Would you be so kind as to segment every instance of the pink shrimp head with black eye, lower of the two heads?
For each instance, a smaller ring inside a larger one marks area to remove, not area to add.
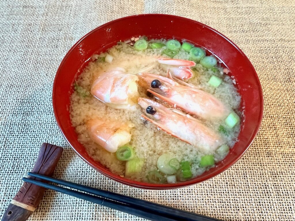
[[[188,144],[196,146],[204,153],[215,151],[225,144],[225,140],[211,128],[202,124],[196,118],[186,115],[179,110],[165,106],[146,98],[138,98],[138,104],[145,114],[142,117]]]

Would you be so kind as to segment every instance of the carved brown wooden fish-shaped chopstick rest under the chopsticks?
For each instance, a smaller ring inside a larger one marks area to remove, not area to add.
[[[52,176],[62,153],[62,147],[43,143],[32,172]],[[40,180],[30,176],[29,178]],[[41,202],[45,190],[43,187],[24,182],[4,212],[1,221],[27,220]]]

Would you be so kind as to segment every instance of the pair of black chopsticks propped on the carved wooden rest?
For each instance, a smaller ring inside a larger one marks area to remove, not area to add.
[[[211,217],[206,217],[203,215],[195,214],[192,212],[187,212],[184,210],[175,209],[172,207],[167,207],[164,205],[148,202],[142,199],[137,199],[134,197],[124,196],[122,194],[117,194],[113,192],[109,192],[106,190],[96,189],[93,187],[84,186],[81,184],[76,184],[73,182],[68,182],[61,179],[56,179],[53,177],[47,177],[37,173],[28,173],[31,177],[36,177],[39,179],[43,179],[49,182],[53,182],[56,184],[63,185],[65,187],[74,188],[86,193],[78,192],[76,190],[67,189],[64,187],[55,186],[52,184],[47,184],[41,181],[37,181],[35,179],[23,178],[23,181],[35,184],[37,186],[45,187],[47,189],[53,189],[57,192],[61,192],[64,194],[68,194],[73,197],[77,197],[80,199],[87,200],[89,202],[93,202],[99,205],[103,205],[115,210],[119,210],[122,212],[129,213],[131,215],[135,215],[138,217],[142,217],[148,220],[167,220],[167,221],[220,221],[218,219],[214,219]],[[89,194],[87,194],[89,193]],[[94,194],[96,196],[90,195]],[[97,197],[98,196],[98,197]]]

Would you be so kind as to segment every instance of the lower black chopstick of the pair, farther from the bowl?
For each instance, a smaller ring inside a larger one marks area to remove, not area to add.
[[[131,215],[142,217],[142,218],[145,218],[145,219],[148,219],[148,220],[153,220],[153,221],[159,221],[159,220],[161,220],[161,221],[162,220],[178,221],[176,219],[167,218],[167,217],[165,217],[163,215],[153,214],[153,213],[150,213],[150,212],[147,212],[147,211],[143,211],[143,210],[134,208],[134,207],[130,206],[129,204],[124,204],[124,203],[117,202],[117,201],[110,200],[110,199],[106,199],[106,198],[103,198],[103,197],[97,197],[97,196],[93,196],[93,195],[90,195],[90,194],[87,194],[87,193],[81,193],[81,192],[78,192],[76,190],[71,190],[71,189],[67,189],[67,188],[64,188],[64,187],[59,187],[59,186],[55,186],[55,185],[52,185],[52,184],[43,183],[43,182],[37,181],[35,179],[30,179],[30,178],[23,177],[22,180],[24,182],[27,182],[27,183],[32,183],[32,184],[35,184],[37,186],[44,187],[44,188],[47,188],[47,189],[52,189],[52,190],[55,190],[57,192],[61,192],[61,193],[64,193],[64,194],[67,194],[67,195],[70,195],[70,196],[73,196],[73,197],[77,197],[79,199],[84,199],[84,200],[89,201],[89,202],[93,202],[93,203],[96,203],[96,204],[99,204],[99,205],[102,205],[102,206],[105,206],[105,207],[112,208],[114,210],[119,210],[121,212],[129,213]]]

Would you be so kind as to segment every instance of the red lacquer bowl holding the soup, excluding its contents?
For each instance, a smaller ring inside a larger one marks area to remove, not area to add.
[[[83,71],[90,57],[105,52],[118,41],[132,36],[145,35],[149,38],[186,39],[205,47],[219,57],[224,66],[230,69],[230,76],[236,80],[236,87],[242,96],[241,108],[244,117],[241,123],[239,142],[217,166],[199,177],[176,184],[150,184],[120,177],[110,172],[99,162],[94,161],[77,140],[75,128],[71,124],[69,107],[71,87],[76,74]],[[53,109],[56,121],[65,139],[76,153],[105,176],[123,184],[146,189],[172,189],[184,187],[210,179],[229,168],[247,151],[253,142],[263,114],[263,96],[258,76],[246,55],[216,30],[199,22],[164,14],[142,14],[124,17],[108,22],[82,37],[65,55],[55,76],[53,84]]]

